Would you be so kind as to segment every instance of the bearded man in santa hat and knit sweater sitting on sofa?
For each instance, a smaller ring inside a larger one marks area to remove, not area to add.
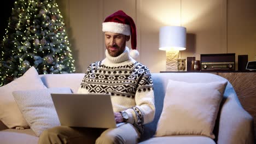
[[[39,143],[137,143],[143,133],[143,124],[153,121],[151,74],[146,66],[129,56],[138,56],[135,23],[119,10],[104,20],[102,31],[106,58],[89,65],[78,93],[110,94],[115,121],[125,124],[107,130],[56,127],[45,130]],[[131,52],[125,46],[130,37]]]

